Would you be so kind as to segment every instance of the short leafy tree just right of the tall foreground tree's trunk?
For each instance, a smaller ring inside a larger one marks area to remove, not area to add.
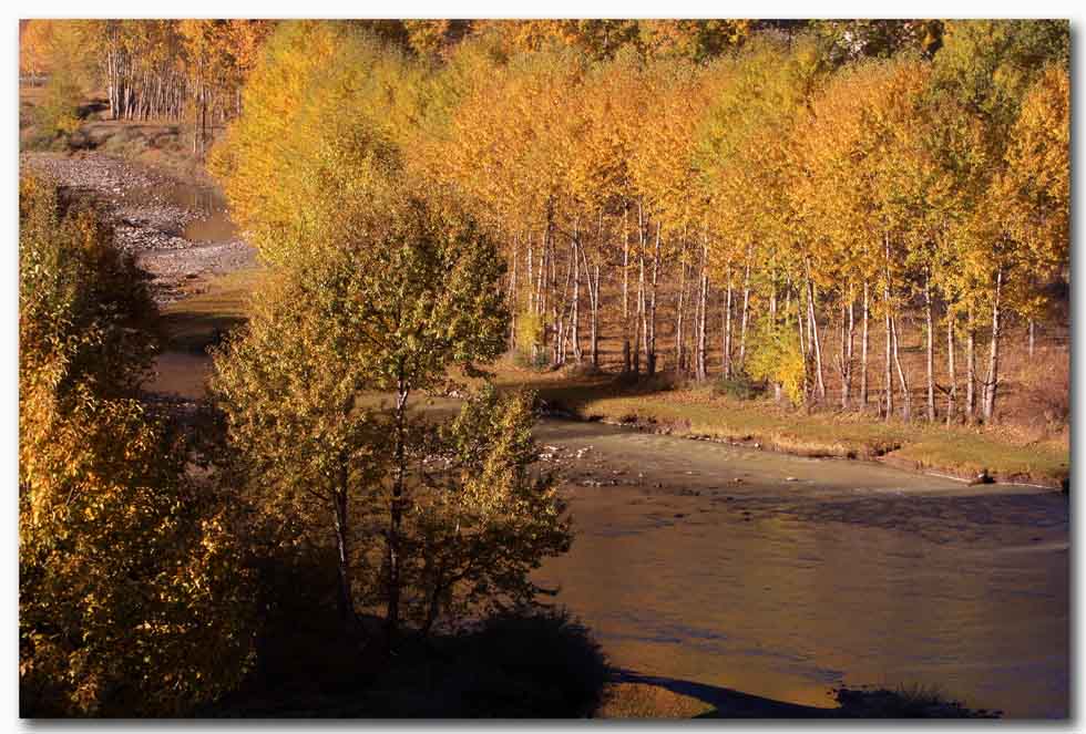
[[[472,394],[420,448],[404,555],[404,613],[424,633],[441,620],[535,602],[531,572],[570,548],[554,478],[532,467],[533,395]]]

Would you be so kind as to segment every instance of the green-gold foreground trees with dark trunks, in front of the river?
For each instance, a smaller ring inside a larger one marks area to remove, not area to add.
[[[356,608],[381,606],[391,643],[404,618],[429,631],[445,612],[530,600],[527,572],[568,529],[529,472],[527,397],[484,392],[445,426],[410,410],[451,368],[475,374],[504,349],[493,242],[433,193],[348,219],[283,261],[213,387],[230,474],[276,541],[335,538],[348,631]]]

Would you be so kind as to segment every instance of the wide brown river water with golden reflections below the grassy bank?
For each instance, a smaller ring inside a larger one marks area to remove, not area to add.
[[[649,479],[578,483],[573,550],[537,575],[614,663],[813,705],[919,683],[1067,715],[1064,497],[591,424],[541,438]]]

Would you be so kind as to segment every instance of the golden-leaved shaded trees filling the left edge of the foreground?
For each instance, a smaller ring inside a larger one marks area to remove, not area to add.
[[[23,179],[19,208],[21,713],[177,715],[250,662],[234,516],[134,397],[140,271],[50,184]]]

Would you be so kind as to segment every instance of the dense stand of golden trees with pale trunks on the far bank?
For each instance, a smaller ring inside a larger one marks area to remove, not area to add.
[[[607,335],[634,374],[666,352],[796,403],[834,390],[908,420],[922,384],[928,420],[995,418],[1007,318],[1033,324],[1066,278],[1065,22],[419,23],[437,61],[375,40],[350,68],[347,31],[280,28],[218,152],[267,257],[293,208],[324,227],[309,201],[359,185],[322,156],[371,155],[501,242],[509,339],[534,363],[598,364]],[[365,141],[316,153],[344,115]],[[918,319],[922,376],[901,359]]]

